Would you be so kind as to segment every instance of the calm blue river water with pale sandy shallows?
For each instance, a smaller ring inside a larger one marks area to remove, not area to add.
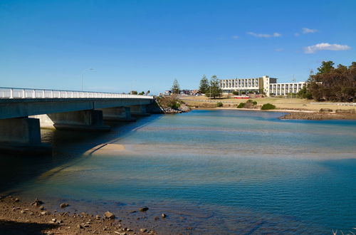
[[[157,223],[163,234],[351,230],[356,121],[281,115],[194,110],[109,133],[43,130],[53,157],[1,156],[0,193],[75,200],[78,209],[108,208],[129,219],[128,210],[147,205],[148,219],[130,223]],[[166,221],[150,218],[162,212]]]

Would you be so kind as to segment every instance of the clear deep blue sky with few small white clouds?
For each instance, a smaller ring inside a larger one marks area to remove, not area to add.
[[[0,87],[157,94],[356,61],[356,1],[1,0]],[[88,70],[93,68],[93,70]]]

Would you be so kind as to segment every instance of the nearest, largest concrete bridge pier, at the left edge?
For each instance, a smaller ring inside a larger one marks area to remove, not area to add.
[[[50,153],[51,146],[41,142],[40,121],[17,117],[0,120],[1,152]]]

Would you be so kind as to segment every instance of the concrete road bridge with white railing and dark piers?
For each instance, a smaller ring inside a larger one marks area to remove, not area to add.
[[[162,113],[153,96],[75,90],[0,88],[0,150],[48,152],[41,127],[110,130],[103,120]]]

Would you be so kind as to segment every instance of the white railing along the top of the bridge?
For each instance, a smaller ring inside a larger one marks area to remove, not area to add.
[[[140,98],[153,99],[150,95],[127,95],[78,90],[46,90],[29,88],[0,88],[0,99],[41,98]]]

